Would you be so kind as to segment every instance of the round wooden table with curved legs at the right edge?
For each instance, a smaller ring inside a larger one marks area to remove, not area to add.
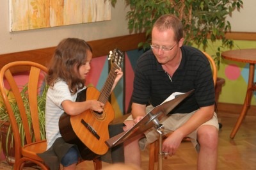
[[[236,125],[233,128],[230,138],[233,139],[238,131],[241,123],[248,111],[248,108],[251,105],[252,93],[256,90],[256,85],[254,82],[254,69],[256,64],[256,49],[240,49],[240,50],[228,50],[221,53],[221,56],[225,59],[229,59],[232,61],[238,61],[242,63],[249,63],[249,78],[248,78],[248,86],[246,91],[246,97],[244,99],[243,109],[237,119]]]

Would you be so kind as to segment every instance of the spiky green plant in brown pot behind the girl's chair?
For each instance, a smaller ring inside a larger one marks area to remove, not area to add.
[[[41,137],[42,139],[45,139],[45,100],[46,100],[46,93],[47,93],[47,86],[44,86],[42,88],[42,91],[40,91],[40,95],[38,95],[38,114],[40,118],[40,132],[42,132]],[[25,85],[22,87],[20,91],[20,95],[22,96],[22,101],[24,102],[25,108],[26,108],[26,113],[29,115],[29,102],[28,102],[28,86]],[[1,96],[0,96],[1,97]],[[17,102],[15,99],[13,99],[12,95],[12,90],[8,91],[8,98],[11,101],[12,109],[13,112],[15,113],[15,118],[19,126],[20,132],[24,132],[23,127],[22,127],[22,121],[20,118],[20,112],[19,108],[17,107]],[[13,134],[12,134],[12,128],[10,126],[10,121],[9,121],[9,116],[8,112],[6,111],[6,108],[4,107],[3,101],[0,99],[0,139],[1,139],[1,144],[2,144],[2,149],[3,153],[6,156],[6,161],[8,164],[13,164],[13,157],[15,154],[15,149],[14,149],[14,141],[13,141]],[[31,117],[29,116],[29,122],[31,123]],[[24,134],[24,133],[22,133]],[[21,139],[22,146],[25,144],[24,143],[24,137],[25,135],[22,136],[23,138]]]

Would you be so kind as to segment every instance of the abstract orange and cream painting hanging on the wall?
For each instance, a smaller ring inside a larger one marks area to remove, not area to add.
[[[9,0],[10,32],[111,19],[110,0]]]

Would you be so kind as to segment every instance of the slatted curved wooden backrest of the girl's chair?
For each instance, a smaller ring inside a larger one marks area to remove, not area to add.
[[[12,68],[21,68],[21,70],[27,70],[26,74],[28,74],[28,82],[26,82],[26,86],[28,90],[25,93],[20,92],[20,82],[17,82],[15,78],[15,73],[12,72]],[[3,98],[3,103],[8,112],[10,118],[10,125],[12,127],[13,139],[15,144],[15,160],[19,160],[21,157],[21,147],[24,139],[25,144],[33,143],[33,141],[41,141],[41,131],[40,131],[40,123],[38,116],[38,89],[40,89],[40,77],[42,75],[46,75],[48,72],[45,66],[42,66],[38,63],[33,63],[30,61],[15,61],[13,63],[8,63],[3,66],[0,71],[0,91]],[[43,76],[44,77],[44,76]],[[6,90],[10,88],[10,91]],[[13,97],[10,99],[8,97],[8,93],[12,93]],[[24,105],[24,95],[26,94],[26,100],[28,104]],[[17,111],[14,111],[13,102],[17,102],[17,107],[19,108],[19,114],[21,117],[22,125],[24,128],[24,134],[20,134],[20,125],[17,123]],[[28,113],[30,111],[30,113]],[[41,127],[42,128],[42,127]],[[24,136],[24,137],[22,137]]]

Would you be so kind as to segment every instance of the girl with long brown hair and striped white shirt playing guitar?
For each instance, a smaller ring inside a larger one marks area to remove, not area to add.
[[[38,154],[50,169],[76,169],[79,151],[76,145],[65,143],[62,139],[58,122],[63,112],[70,115],[80,114],[87,109],[102,112],[104,104],[97,100],[75,102],[77,93],[84,88],[86,76],[90,70],[92,48],[84,40],[67,38],[57,46],[47,76],[47,91],[45,123],[47,151]],[[123,75],[122,70],[116,70],[117,82]],[[112,90],[113,90],[112,88]],[[55,162],[54,162],[55,160]]]

